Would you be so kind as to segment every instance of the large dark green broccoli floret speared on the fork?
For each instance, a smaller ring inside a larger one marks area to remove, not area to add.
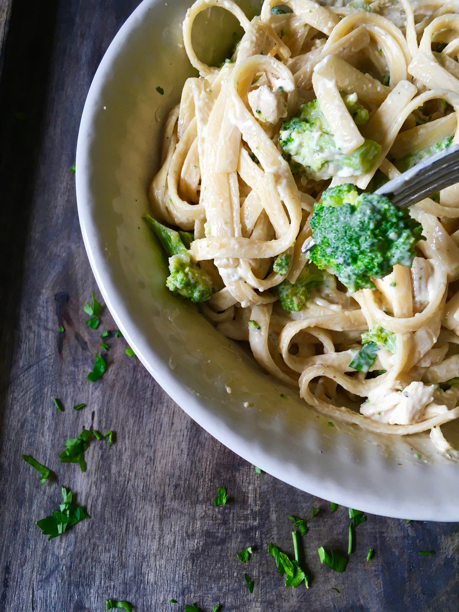
[[[333,272],[349,291],[375,288],[395,264],[411,267],[422,226],[385,196],[357,194],[354,185],[330,187],[310,219],[315,245],[309,257]]]

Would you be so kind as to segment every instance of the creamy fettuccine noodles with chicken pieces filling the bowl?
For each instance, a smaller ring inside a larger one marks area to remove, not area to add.
[[[192,45],[193,21],[211,7],[244,29],[220,67]],[[166,121],[150,200],[160,221],[194,232],[190,256],[214,289],[204,315],[327,417],[397,435],[430,431],[450,452],[439,427],[459,416],[459,184],[411,207],[427,240],[411,268],[394,266],[375,289],[352,293],[326,274],[301,308],[285,310],[276,288],[296,283],[307,264],[301,247],[325,188],[365,190],[397,176],[407,156],[459,143],[459,4],[264,0],[250,21],[232,0],[197,0],[183,34],[200,76]],[[362,125],[346,101],[355,94],[368,111]],[[283,121],[312,100],[342,154],[377,143],[369,168],[328,179],[293,173]],[[285,271],[273,265],[279,256]],[[394,346],[378,346],[365,376],[351,362],[375,326]]]

